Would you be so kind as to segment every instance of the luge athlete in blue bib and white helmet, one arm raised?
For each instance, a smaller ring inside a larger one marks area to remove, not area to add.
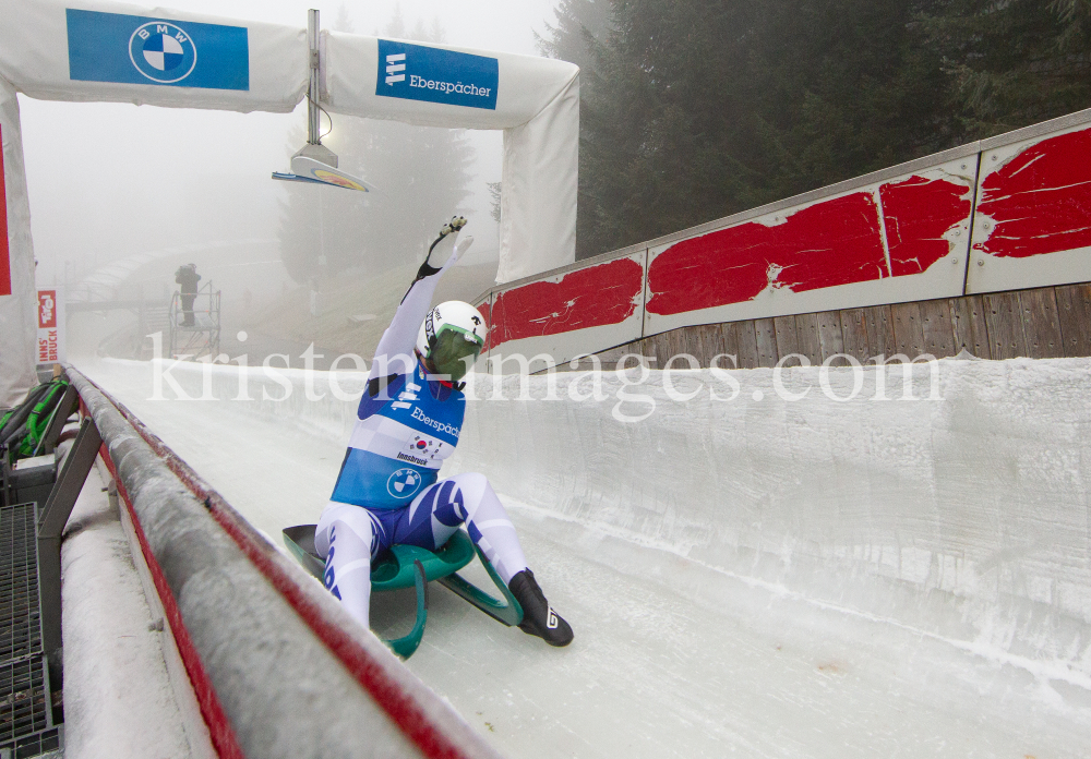
[[[459,380],[488,335],[469,303],[429,310],[440,278],[472,241],[467,238],[463,251],[455,245],[465,225],[456,216],[440,231],[379,341],[314,544],[326,559],[326,588],[367,626],[372,562],[395,543],[435,551],[465,522],[523,607],[523,631],[567,646],[572,628],[546,601],[489,481],[476,473],[437,480],[440,465],[458,445],[466,411]],[[446,263],[432,266],[433,256],[447,256]]]

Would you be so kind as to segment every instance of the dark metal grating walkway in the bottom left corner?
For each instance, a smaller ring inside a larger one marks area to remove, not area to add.
[[[41,651],[36,504],[0,507],[0,759],[37,757],[60,747]]]

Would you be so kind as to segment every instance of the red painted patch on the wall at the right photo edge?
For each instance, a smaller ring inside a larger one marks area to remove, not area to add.
[[[973,245],[983,253],[1026,258],[1091,245],[1091,130],[1009,159],[982,182],[978,212],[996,225]]]

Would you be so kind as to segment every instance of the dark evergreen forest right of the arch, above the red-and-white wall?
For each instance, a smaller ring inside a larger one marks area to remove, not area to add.
[[[560,0],[585,258],[1091,107],[1091,0]]]

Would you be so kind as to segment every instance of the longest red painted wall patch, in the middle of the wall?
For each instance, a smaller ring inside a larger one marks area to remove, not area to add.
[[[767,287],[804,292],[889,276],[871,193],[741,224],[671,245],[648,268],[647,310],[679,314],[752,300]]]

